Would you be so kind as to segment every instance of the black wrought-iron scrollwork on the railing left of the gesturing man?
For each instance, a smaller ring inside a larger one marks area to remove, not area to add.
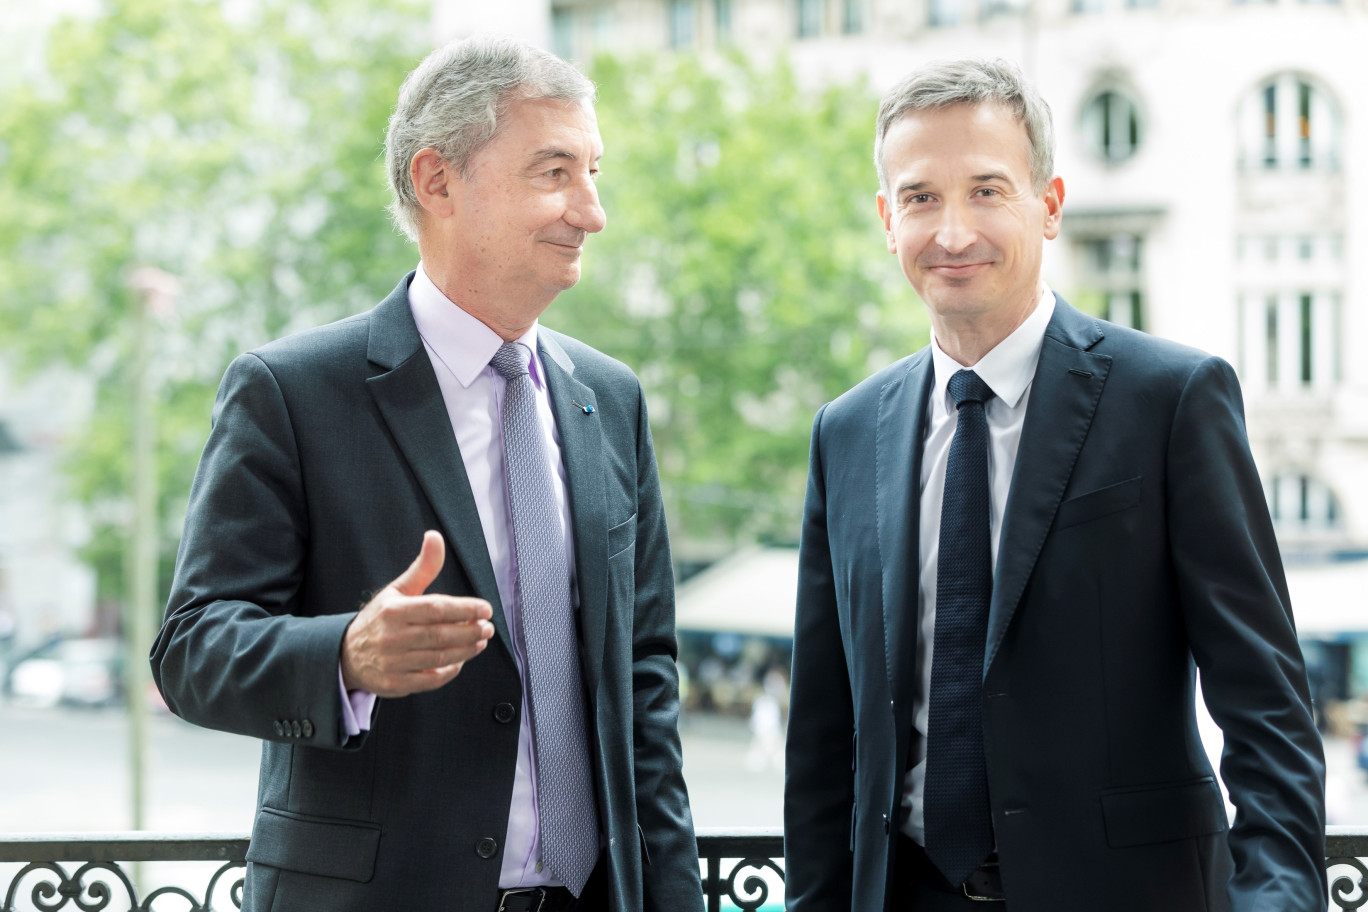
[[[245,868],[242,861],[228,861],[219,867],[209,878],[202,900],[183,887],[164,886],[153,890],[140,902],[137,887],[116,861],[86,861],[77,868],[75,874],[70,875],[55,861],[33,861],[10,881],[10,889],[5,891],[0,912],[19,912],[18,897],[23,894],[23,883],[34,879],[29,902],[37,912],[59,912],[59,909],[68,908],[79,912],[114,912],[115,909],[122,912],[124,908],[131,912],[172,912],[182,908],[183,912],[226,911],[230,907],[222,902],[215,905],[215,896],[224,889],[224,878],[231,871],[237,871],[238,876],[227,883],[226,898],[231,902],[231,908],[241,909]],[[120,889],[123,891],[122,900],[127,905],[120,901],[111,907],[111,901]],[[163,901],[167,897],[176,897],[185,905],[171,900]]]

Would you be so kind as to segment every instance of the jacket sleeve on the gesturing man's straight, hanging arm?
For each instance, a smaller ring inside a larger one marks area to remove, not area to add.
[[[637,390],[636,552],[632,619],[632,741],[636,819],[650,846],[643,859],[646,912],[702,912],[698,842],[684,786],[679,736],[679,640],[674,630],[674,572],[665,507],[646,416]]]

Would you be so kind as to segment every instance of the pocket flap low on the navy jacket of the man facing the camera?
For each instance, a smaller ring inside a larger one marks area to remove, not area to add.
[[[1107,844],[1114,849],[1190,840],[1228,829],[1216,779],[1103,793]]]

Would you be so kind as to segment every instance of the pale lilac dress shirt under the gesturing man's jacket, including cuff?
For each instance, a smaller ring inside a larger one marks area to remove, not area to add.
[[[521,648],[521,604],[517,598],[517,555],[513,548],[513,514],[509,506],[508,476],[503,472],[503,391],[508,381],[490,366],[490,358],[503,345],[503,339],[487,325],[453,304],[432,283],[423,264],[409,284],[409,308],[419,335],[432,361],[442,399],[446,403],[456,442],[461,448],[471,494],[480,514],[484,546],[494,565],[499,600],[508,618],[510,644],[523,681],[523,711],[518,726],[517,771],[513,777],[513,801],[509,807],[509,827],[503,840],[503,866],[499,887],[562,886],[550,868],[540,863],[540,823],[536,805],[536,752],[532,742],[531,712],[528,711],[527,656]],[[570,603],[579,610],[579,589],[575,580],[575,537],[570,532],[570,507],[565,492],[565,464],[561,459],[561,435],[551,414],[546,375],[536,350],[536,324],[516,342],[531,351],[528,372],[536,388],[536,409],[546,432],[546,453],[551,468],[551,487],[565,536],[565,555],[570,572]],[[446,559],[456,555],[447,544]],[[480,662],[476,656],[473,662]],[[373,696],[350,692],[343,700],[343,726],[347,734],[369,727]]]

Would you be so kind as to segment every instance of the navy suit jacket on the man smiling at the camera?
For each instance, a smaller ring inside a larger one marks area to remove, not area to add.
[[[818,413],[785,797],[792,912],[888,901],[912,732],[922,350]],[[1193,677],[1226,736],[1226,811]],[[1011,912],[1326,908],[1324,759],[1239,388],[1083,316],[1045,331],[993,584],[984,738]]]

